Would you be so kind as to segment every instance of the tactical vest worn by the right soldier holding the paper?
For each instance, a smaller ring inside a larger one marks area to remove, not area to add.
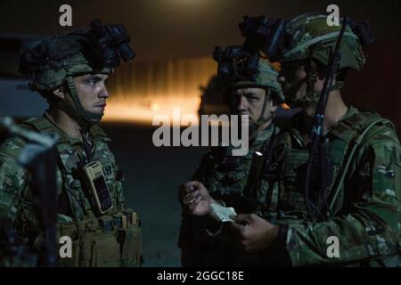
[[[331,183],[327,188],[332,213],[338,213],[346,206],[345,186],[356,173],[357,160],[360,159],[358,151],[389,127],[394,129],[389,120],[377,113],[354,109],[354,113],[341,119],[325,135],[332,165]],[[284,224],[302,223],[307,220],[304,185],[309,152],[295,129],[279,134],[273,148],[274,161],[263,169],[258,182],[258,187],[267,189],[265,208],[258,214],[277,224],[281,224],[280,221],[285,221]],[[370,175],[369,169],[357,171]]]

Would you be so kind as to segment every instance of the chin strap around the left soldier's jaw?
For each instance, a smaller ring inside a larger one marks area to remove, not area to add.
[[[69,114],[78,122],[79,126],[82,126],[84,128],[88,128],[98,123],[102,119],[102,114],[88,112],[84,109],[84,107],[82,107],[82,104],[79,101],[77,88],[72,77],[67,77],[67,84],[69,85],[70,95],[72,98],[72,102],[74,102],[75,108],[62,105],[61,110]]]

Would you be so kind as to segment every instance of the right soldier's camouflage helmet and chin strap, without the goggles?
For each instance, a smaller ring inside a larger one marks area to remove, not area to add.
[[[309,75],[305,79],[308,83],[308,92],[306,98],[297,102],[295,93],[297,88],[285,92],[286,102],[290,105],[301,107],[305,104],[317,102],[319,94],[312,91],[317,77],[316,65],[328,66],[331,54],[340,35],[342,19],[340,25],[329,26],[327,24],[327,14],[324,13],[306,13],[289,20],[286,23],[286,33],[291,41],[286,46],[286,52],[282,55],[281,62],[285,66],[296,64],[303,61],[308,65]],[[373,41],[370,34],[370,26],[366,21],[356,23],[353,20],[348,21],[344,37],[340,45],[341,57],[339,63],[339,76],[337,83],[333,88],[339,89],[343,85],[343,78],[347,69],[360,70],[364,67],[366,57],[363,52],[363,46]],[[300,86],[300,83],[299,85]]]

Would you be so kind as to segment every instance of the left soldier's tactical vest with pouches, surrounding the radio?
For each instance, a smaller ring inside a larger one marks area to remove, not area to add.
[[[61,131],[46,118],[31,118],[21,126],[40,133]],[[59,266],[140,266],[142,264],[142,230],[140,221],[131,208],[127,208],[121,186],[122,175],[107,142],[110,139],[99,126],[90,130],[94,138],[92,155],[102,163],[102,170],[110,191],[112,208],[98,215],[92,197],[79,173],[79,161],[86,155],[79,140],[73,142],[61,134],[57,142],[57,187],[59,214],[57,237],[72,240],[72,257],[59,256]],[[16,224],[22,236],[30,236],[40,229],[32,207],[30,191],[23,194],[27,203],[20,207]],[[30,205],[30,206],[29,206]],[[66,207],[67,205],[67,207]],[[41,234],[35,244],[40,247]],[[62,246],[62,244],[60,245]]]

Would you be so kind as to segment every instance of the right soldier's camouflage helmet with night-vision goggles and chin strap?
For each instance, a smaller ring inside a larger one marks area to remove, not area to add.
[[[291,107],[302,107],[316,103],[319,94],[313,91],[318,76],[318,66],[327,67],[333,53],[340,26],[327,24],[328,14],[307,13],[291,20],[268,18],[266,16],[245,16],[240,23],[241,35],[246,37],[244,46],[253,53],[282,63],[288,69],[297,62],[306,64],[308,76],[294,85],[284,95]],[[339,89],[347,69],[360,70],[366,58],[362,47],[372,43],[370,26],[367,21],[357,23],[349,20],[341,43],[339,74],[332,89]],[[307,82],[307,96],[301,101],[295,99],[299,86]]]

